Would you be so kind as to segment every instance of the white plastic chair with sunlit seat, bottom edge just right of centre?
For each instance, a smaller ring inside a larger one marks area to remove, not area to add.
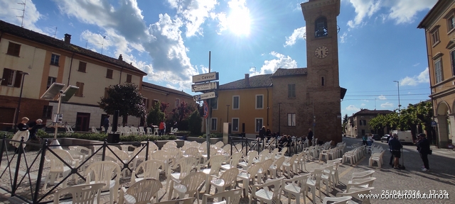
[[[273,191],[269,190],[270,186],[273,187]],[[259,191],[257,191],[258,188]],[[282,190],[282,179],[272,179],[268,180],[264,184],[260,185],[253,185],[252,186],[252,193],[250,196],[250,203],[252,202],[252,198],[257,198],[257,200],[260,200],[261,203],[267,203],[267,204],[272,204],[272,203],[279,203],[279,200],[281,200],[281,190]]]

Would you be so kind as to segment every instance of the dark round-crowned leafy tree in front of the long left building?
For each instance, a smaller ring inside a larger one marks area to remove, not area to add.
[[[139,93],[137,85],[130,83],[109,86],[107,97],[101,97],[98,104],[109,115],[119,111],[119,115],[123,117],[123,125],[127,124],[128,115],[142,118],[146,114],[144,97]]]

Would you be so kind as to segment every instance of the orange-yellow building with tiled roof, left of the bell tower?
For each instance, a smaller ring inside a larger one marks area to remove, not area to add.
[[[223,123],[231,123],[231,133],[255,137],[262,126],[272,125],[272,81],[264,74],[223,84],[218,100],[212,100],[210,132],[223,132]],[[272,128],[271,128],[272,130]],[[272,130],[277,132],[278,130]]]

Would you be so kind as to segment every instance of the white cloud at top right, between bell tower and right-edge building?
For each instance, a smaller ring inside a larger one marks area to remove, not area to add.
[[[357,15],[353,20],[348,21],[348,26],[355,28],[365,24],[365,18],[370,18],[383,10],[387,13],[378,13],[383,20],[390,19],[397,24],[412,23],[417,12],[432,8],[437,0],[349,0],[349,2],[355,8]]]

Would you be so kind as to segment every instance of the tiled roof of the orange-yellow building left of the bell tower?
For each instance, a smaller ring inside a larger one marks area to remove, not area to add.
[[[272,74],[262,74],[256,75],[253,77],[249,77],[248,81],[250,84],[246,84],[246,79],[239,79],[237,81],[232,81],[228,84],[220,85],[219,90],[226,90],[226,89],[252,89],[252,88],[263,88],[263,87],[271,87],[272,80],[270,79]]]

